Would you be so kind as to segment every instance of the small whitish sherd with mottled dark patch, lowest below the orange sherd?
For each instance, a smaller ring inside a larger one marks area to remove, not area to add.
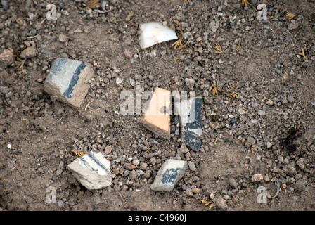
[[[184,176],[187,162],[184,160],[167,160],[159,169],[150,188],[153,191],[172,191],[176,182]]]

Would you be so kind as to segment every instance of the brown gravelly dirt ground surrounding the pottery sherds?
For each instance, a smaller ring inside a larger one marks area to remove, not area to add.
[[[0,64],[0,210],[315,210],[314,1],[264,1],[267,20],[258,19],[259,0],[110,0],[105,13],[84,2],[1,1],[0,53],[14,58]],[[44,20],[48,3],[56,21]],[[138,27],[150,21],[173,27],[184,46],[141,49]],[[36,56],[24,60],[27,46]],[[44,90],[60,57],[96,71],[79,109]],[[186,78],[204,99],[203,136],[199,151],[180,153],[178,118],[171,139],[160,139],[141,115],[120,114],[120,93],[188,91]],[[67,168],[77,158],[71,150],[108,146],[113,184],[89,191]],[[151,191],[176,155],[195,168],[172,192]]]

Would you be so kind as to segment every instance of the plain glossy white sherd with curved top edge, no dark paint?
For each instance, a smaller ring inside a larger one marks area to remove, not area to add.
[[[174,39],[178,39],[176,32],[161,23],[149,22],[139,25],[139,44],[141,49]]]

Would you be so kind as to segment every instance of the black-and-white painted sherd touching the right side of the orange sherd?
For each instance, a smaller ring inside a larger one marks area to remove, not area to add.
[[[174,106],[181,122],[181,142],[195,151],[200,150],[203,134],[203,98],[176,101]]]

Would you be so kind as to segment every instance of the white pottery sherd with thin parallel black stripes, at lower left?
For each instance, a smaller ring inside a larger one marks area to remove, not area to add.
[[[110,161],[103,157],[101,152],[91,151],[71,162],[68,168],[87,189],[105,188],[112,184],[113,177],[110,172]]]

